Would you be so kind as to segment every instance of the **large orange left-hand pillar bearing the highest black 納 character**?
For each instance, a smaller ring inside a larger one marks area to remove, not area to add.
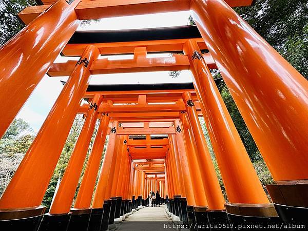
[[[70,75],[2,195],[0,208],[25,208],[41,205],[76,112],[88,87],[89,68],[93,59],[96,59],[98,55],[98,50],[94,46],[88,46],[84,51],[82,58],[87,57],[89,65],[87,67],[76,66]]]

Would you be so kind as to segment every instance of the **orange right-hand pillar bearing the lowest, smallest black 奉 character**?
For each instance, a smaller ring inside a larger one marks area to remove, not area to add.
[[[180,120],[177,119],[174,122],[175,127],[181,126]],[[184,144],[183,132],[176,132],[176,137],[174,139],[174,143],[178,149],[179,161],[181,163],[181,171],[183,176],[183,184],[185,189],[185,195],[187,199],[188,205],[196,205],[193,187],[191,184],[195,182],[194,179],[190,176],[190,170],[188,166],[187,153]]]

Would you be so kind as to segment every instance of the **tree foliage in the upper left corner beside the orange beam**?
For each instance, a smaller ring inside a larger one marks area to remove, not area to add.
[[[34,5],[34,0],[0,0],[0,46],[24,28],[16,17],[17,13]]]

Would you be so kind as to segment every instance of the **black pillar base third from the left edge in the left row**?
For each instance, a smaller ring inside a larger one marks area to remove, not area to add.
[[[71,218],[68,224],[68,231],[81,230],[87,231],[91,216],[91,208],[70,210]]]

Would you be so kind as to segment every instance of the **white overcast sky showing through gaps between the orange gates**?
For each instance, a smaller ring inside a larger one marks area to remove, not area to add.
[[[89,26],[80,27],[78,30],[121,30],[135,28],[155,28],[188,25],[189,12],[160,13],[138,16],[104,18],[100,22],[91,23]],[[155,54],[163,56],[168,54]],[[111,56],[109,59],[129,59],[132,55]],[[70,57],[69,59],[74,59]],[[78,58],[76,58],[78,59]],[[55,62],[65,62],[66,57],[57,57]],[[56,98],[60,94],[63,85],[61,80],[67,78],[50,78],[47,75],[38,84],[32,95],[16,118],[27,121],[37,132],[48,115]],[[182,71],[179,78],[172,79],[168,71],[164,72],[143,72],[127,74],[104,74],[93,75],[90,84],[144,84],[144,83],[175,83],[191,82],[190,73]]]

